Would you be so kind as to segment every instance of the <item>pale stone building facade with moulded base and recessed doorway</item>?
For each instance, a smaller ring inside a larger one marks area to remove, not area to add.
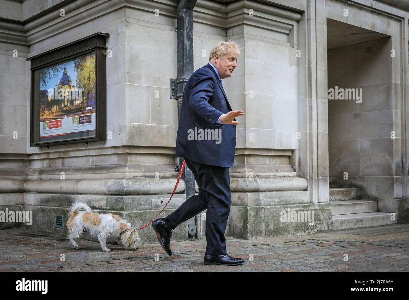
[[[178,177],[178,100],[169,84],[178,77],[178,4],[1,1],[3,210],[31,210],[27,227],[58,234],[65,229],[54,218],[65,221],[75,200],[135,227],[159,213]],[[242,47],[223,80],[232,108],[245,113],[230,169],[228,236],[408,221],[408,25],[409,0],[197,0],[194,70],[220,40]],[[97,32],[109,33],[109,137],[30,147],[27,58]],[[181,180],[164,215],[185,200],[185,187]],[[311,215],[312,222],[295,218]],[[205,238],[205,222],[201,214],[183,223],[172,241]],[[0,228],[18,225],[25,226]],[[156,241],[150,228],[140,237]]]

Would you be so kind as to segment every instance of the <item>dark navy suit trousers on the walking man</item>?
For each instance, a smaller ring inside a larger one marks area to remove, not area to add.
[[[211,166],[184,159],[199,186],[199,194],[191,196],[165,218],[174,229],[179,224],[206,212],[206,253],[222,255],[226,252],[225,231],[229,218],[231,194],[228,167]]]

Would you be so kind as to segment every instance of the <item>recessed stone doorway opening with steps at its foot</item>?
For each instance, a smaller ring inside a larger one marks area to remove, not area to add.
[[[377,187],[393,176],[391,37],[327,18],[333,229],[389,224]]]

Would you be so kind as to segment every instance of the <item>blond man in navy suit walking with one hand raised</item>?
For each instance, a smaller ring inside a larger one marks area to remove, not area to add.
[[[239,55],[237,44],[220,41],[211,50],[209,63],[196,70],[184,88],[175,154],[183,157],[191,169],[199,194],[166,218],[152,222],[158,241],[169,256],[172,229],[207,209],[204,263],[244,262],[227,254],[224,235],[231,204],[229,168],[236,149],[236,117],[244,113],[231,109],[222,79],[236,69]]]

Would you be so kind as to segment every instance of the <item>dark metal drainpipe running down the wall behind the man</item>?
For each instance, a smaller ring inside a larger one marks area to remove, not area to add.
[[[180,0],[178,4],[178,32],[177,32],[177,55],[178,55],[178,78],[170,79],[171,99],[178,99],[178,120],[182,107],[183,90],[187,80],[193,73],[193,8],[197,0]],[[182,168],[183,158],[179,158],[179,170]],[[186,199],[196,193],[195,177],[192,171],[185,165],[182,178],[186,184]],[[189,235],[196,235],[195,217],[188,221]]]

